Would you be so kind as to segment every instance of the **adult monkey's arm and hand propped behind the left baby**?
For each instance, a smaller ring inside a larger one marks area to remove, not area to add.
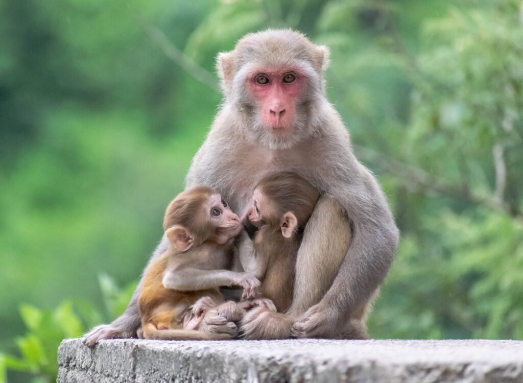
[[[168,240],[164,235],[162,241],[151,256],[149,263],[165,252],[167,246]],[[130,338],[137,336],[137,331],[141,325],[140,310],[138,309],[138,298],[140,297],[141,289],[142,281],[140,281],[140,284],[134,290],[126,311],[110,324],[101,324],[85,334],[84,344],[88,347],[94,347],[100,339]]]

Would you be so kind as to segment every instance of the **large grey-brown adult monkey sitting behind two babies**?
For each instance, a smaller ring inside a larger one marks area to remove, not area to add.
[[[399,231],[376,179],[354,156],[328,103],[328,49],[292,30],[249,33],[218,55],[224,100],[186,178],[214,187],[243,213],[269,172],[292,171],[322,197],[305,229],[295,268],[292,335],[336,338],[365,329],[365,310],[396,252]],[[350,244],[350,246],[349,246]],[[162,240],[153,254],[166,249]],[[121,317],[90,331],[85,344],[137,335],[140,285]],[[263,321],[258,321],[264,326]],[[270,326],[260,329],[269,332]]]

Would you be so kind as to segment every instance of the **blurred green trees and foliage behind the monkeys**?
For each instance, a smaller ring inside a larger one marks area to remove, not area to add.
[[[123,309],[220,103],[215,55],[268,27],[331,48],[402,231],[371,335],[523,339],[521,0],[0,0],[0,380],[52,379],[61,337]]]

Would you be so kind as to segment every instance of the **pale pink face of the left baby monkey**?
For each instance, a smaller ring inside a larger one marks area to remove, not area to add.
[[[221,195],[211,196],[207,209],[211,222],[216,228],[216,240],[219,243],[227,242],[242,231],[240,218],[231,210]]]

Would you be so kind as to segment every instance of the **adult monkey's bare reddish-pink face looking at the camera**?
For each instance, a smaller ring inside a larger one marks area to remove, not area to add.
[[[292,133],[296,105],[304,88],[303,74],[293,68],[258,68],[248,77],[248,89],[256,100],[261,123],[275,136]]]

